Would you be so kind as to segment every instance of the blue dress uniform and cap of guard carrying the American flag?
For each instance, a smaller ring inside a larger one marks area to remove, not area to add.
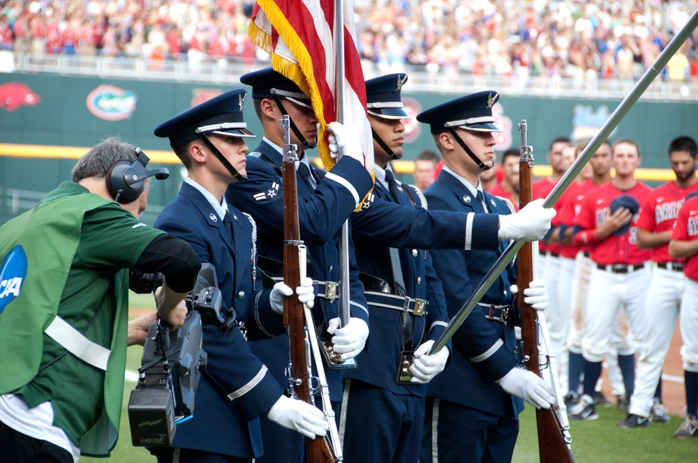
[[[253,98],[273,98],[281,95],[294,104],[309,105],[310,99],[290,79],[272,68],[249,73],[241,82],[252,86]],[[272,89],[274,93],[272,93]],[[267,139],[247,157],[248,181],[232,183],[226,197],[250,213],[257,222],[258,254],[260,269],[272,278],[279,278],[283,270],[283,183],[281,146]],[[303,167],[301,167],[303,165]],[[345,156],[323,174],[308,165],[307,159],[299,162],[297,172],[298,212],[300,237],[306,244],[309,257],[308,276],[316,283],[315,324],[326,327],[325,321],[339,316],[339,294],[329,293],[332,282],[339,282],[339,236],[341,226],[359,205],[373,186],[373,180],[364,166]],[[311,177],[311,178],[309,178]],[[315,188],[316,187],[316,188]],[[353,242],[349,241],[351,316],[369,324],[369,312],[364,298],[364,287],[359,281],[354,257]],[[329,282],[329,284],[327,284]],[[339,289],[340,291],[342,289]],[[272,312],[255,313],[257,326],[249,326],[253,349],[279,381],[287,381],[288,339],[283,333],[279,317]],[[269,339],[269,337],[271,337]],[[325,366],[330,400],[341,400],[342,370]],[[293,462],[302,459],[304,439],[300,434],[285,430],[262,418],[262,434],[265,436],[265,455],[258,462]],[[269,445],[266,445],[267,440]],[[270,448],[272,447],[272,448]]]

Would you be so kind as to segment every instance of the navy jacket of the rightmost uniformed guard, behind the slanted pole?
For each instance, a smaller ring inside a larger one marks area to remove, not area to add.
[[[482,204],[449,172],[440,172],[424,196],[431,209],[484,213]],[[504,202],[489,193],[484,193],[484,199],[490,213],[510,213]],[[436,274],[443,282],[449,317],[454,317],[461,309],[504,248],[505,243],[499,243],[492,250],[431,251]],[[509,305],[513,282],[514,268],[508,266],[481,302]],[[523,401],[505,393],[493,382],[517,365],[513,354],[516,338],[512,321],[505,325],[486,319],[482,309],[476,307],[452,341],[451,363],[429,383],[428,395],[499,416],[517,415],[523,409]]]

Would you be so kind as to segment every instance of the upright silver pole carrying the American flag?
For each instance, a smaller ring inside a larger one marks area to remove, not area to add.
[[[334,0],[334,77],[337,122],[344,123],[344,4]],[[340,157],[337,158],[339,160]],[[339,320],[349,323],[349,221],[342,225],[339,252]]]

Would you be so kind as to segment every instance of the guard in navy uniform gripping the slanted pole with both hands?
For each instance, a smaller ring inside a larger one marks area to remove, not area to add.
[[[376,185],[371,202],[351,220],[372,340],[358,356],[357,369],[345,374],[340,421],[348,463],[419,458],[424,383],[443,370],[449,352],[426,355],[443,332],[447,314],[441,282],[425,250],[498,247],[497,215],[429,211],[419,190],[395,180],[389,162],[403,153],[401,119],[410,116],[400,94],[407,78],[391,74],[366,81]],[[526,223],[537,227],[535,237],[540,238],[549,219],[544,211],[537,212],[536,219],[527,210]],[[413,351],[417,360],[410,381],[401,368],[403,354]],[[376,407],[378,403],[383,406]]]

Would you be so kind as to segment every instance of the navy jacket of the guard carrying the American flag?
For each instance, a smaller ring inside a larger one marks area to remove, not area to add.
[[[276,169],[260,159],[263,154],[272,160]],[[258,227],[258,253],[260,256],[283,261],[283,185],[281,183],[281,153],[274,146],[262,141],[254,153],[247,156],[248,181],[230,185],[226,192],[228,204],[250,213]],[[278,170],[277,170],[278,169]],[[318,188],[314,191],[300,174],[296,174],[298,192],[298,214],[300,237],[306,244],[312,262],[312,278],[319,281],[339,282],[339,236],[341,226],[357,207],[373,185],[371,176],[356,160],[343,158],[325,174],[320,181],[320,172],[313,168]],[[346,185],[357,185],[352,192]],[[352,317],[359,317],[369,324],[369,313],[364,298],[364,287],[359,281],[354,258],[353,242],[349,241],[350,256],[350,301]],[[262,270],[268,270],[261,266]],[[278,273],[277,273],[278,274]],[[338,317],[339,299],[316,298],[315,324]],[[278,317],[271,312],[255,313],[255,319],[262,335],[277,336],[285,333]],[[252,329],[252,327],[251,327]],[[252,339],[252,338],[251,338]],[[268,337],[267,337],[268,339]],[[288,356],[280,355],[279,349],[288,351],[288,341],[283,339],[262,340],[254,343],[255,352],[267,364],[279,381],[286,381],[284,369],[288,366]],[[325,369],[332,400],[341,400],[341,370]]]

